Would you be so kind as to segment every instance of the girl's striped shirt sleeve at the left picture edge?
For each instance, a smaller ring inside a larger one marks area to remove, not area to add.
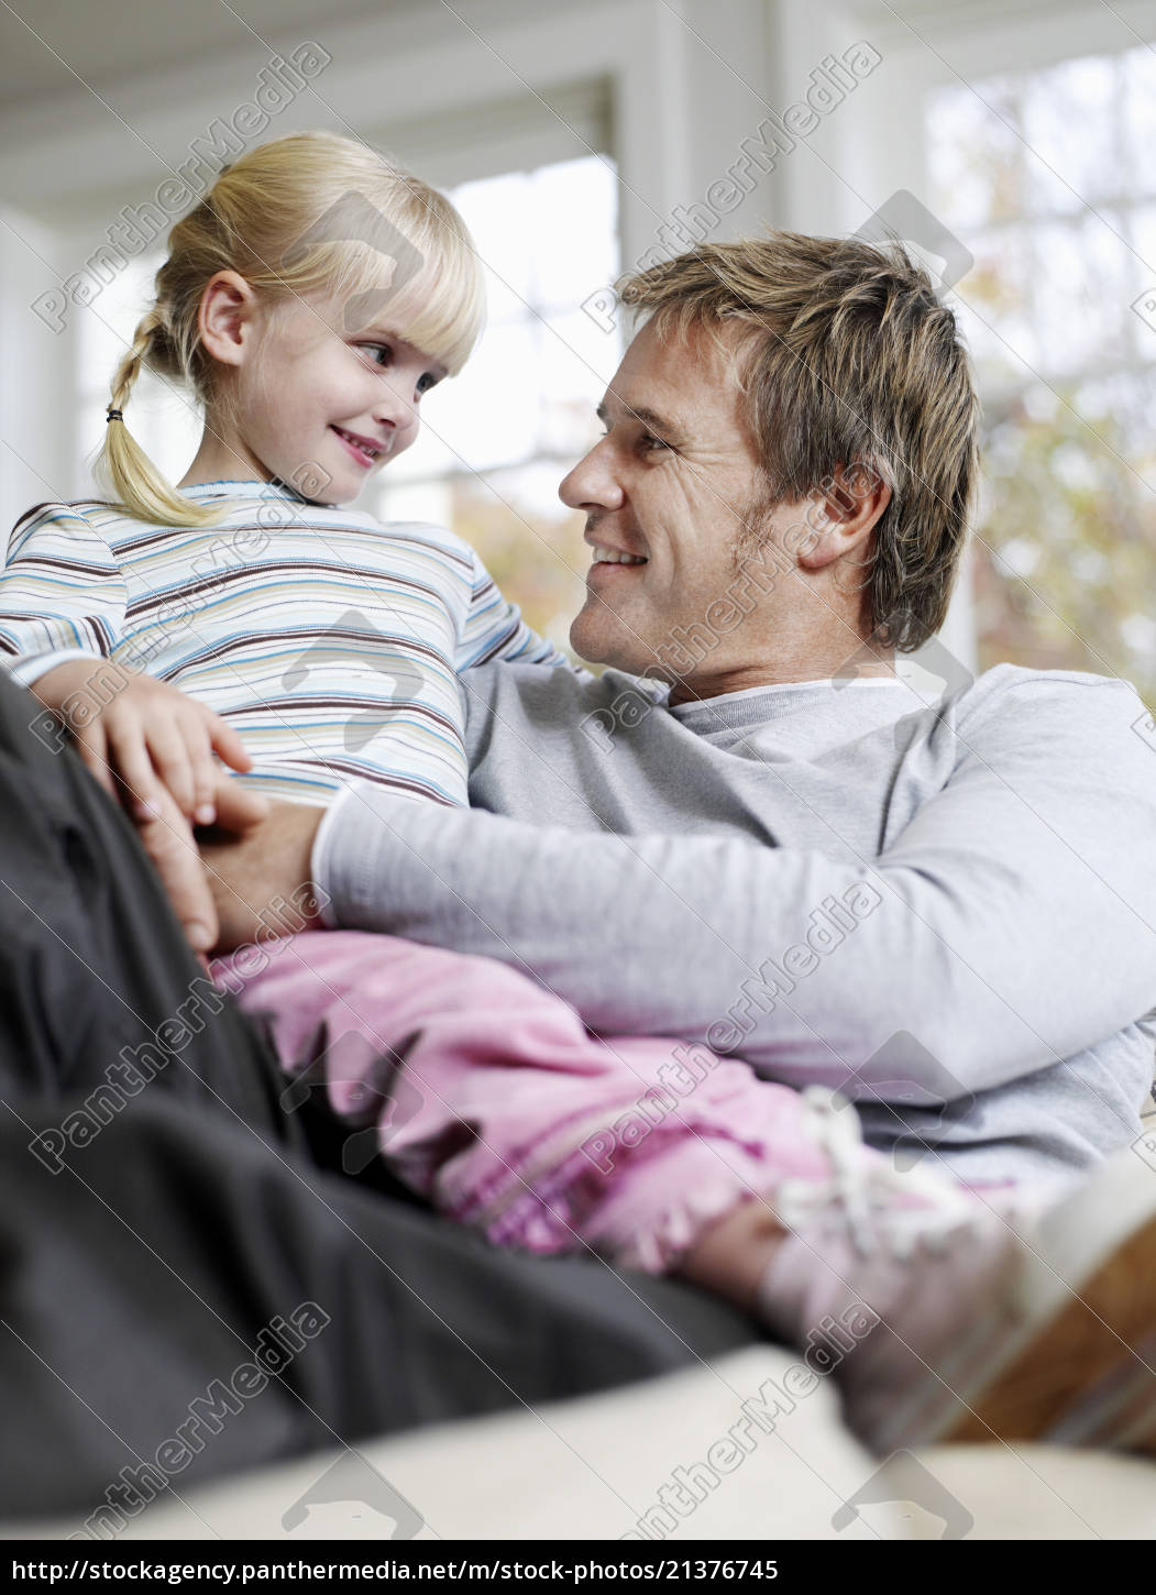
[[[0,574],[0,662],[32,686],[69,659],[107,659],[124,605],[121,566],[92,522],[41,504],[16,525]]]

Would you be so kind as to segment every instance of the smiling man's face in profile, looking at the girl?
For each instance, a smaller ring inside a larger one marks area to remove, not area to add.
[[[741,589],[735,549],[773,536],[781,517],[767,507],[730,357],[702,332],[665,341],[644,327],[598,415],[606,435],[558,490],[587,512],[595,561],[576,652],[684,683],[741,670],[764,651],[769,598]]]

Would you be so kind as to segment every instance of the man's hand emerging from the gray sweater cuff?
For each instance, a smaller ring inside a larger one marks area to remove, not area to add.
[[[257,823],[226,828],[222,812],[217,826],[198,833],[218,927],[217,952],[317,924],[320,904],[311,861],[324,813],[305,804],[274,802]]]

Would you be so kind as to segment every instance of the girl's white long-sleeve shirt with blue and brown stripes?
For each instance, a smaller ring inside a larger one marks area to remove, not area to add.
[[[325,804],[365,778],[466,804],[456,673],[561,662],[477,553],[442,526],[383,525],[289,488],[210,482],[215,526],[145,525],[110,504],[40,504],[0,576],[0,654],[32,684],[102,656],[215,710],[246,786]]]

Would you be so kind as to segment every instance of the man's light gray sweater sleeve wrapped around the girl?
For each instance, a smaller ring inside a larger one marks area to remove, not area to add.
[[[1123,683],[1011,687],[864,863],[356,790],[322,826],[314,874],[333,922],[501,959],[601,1034],[702,1040],[788,1085],[855,1089],[906,1032],[946,1101],[1156,1005],[1156,753],[1138,711]],[[808,936],[824,904],[828,930]]]

